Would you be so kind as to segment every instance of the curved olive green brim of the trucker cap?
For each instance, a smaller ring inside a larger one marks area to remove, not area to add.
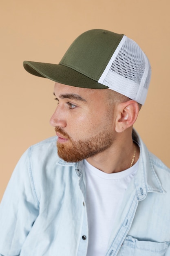
[[[71,85],[81,88],[106,89],[106,85],[102,85],[97,81],[60,64],[41,63],[34,61],[24,61],[24,69],[35,76],[48,78],[58,83]]]

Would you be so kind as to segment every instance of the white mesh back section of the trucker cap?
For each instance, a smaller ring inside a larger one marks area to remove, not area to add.
[[[98,82],[144,104],[150,82],[148,58],[137,43],[123,36]]]

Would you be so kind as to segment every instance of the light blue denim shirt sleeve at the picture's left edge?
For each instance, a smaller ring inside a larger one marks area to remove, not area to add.
[[[30,150],[20,158],[0,203],[0,256],[18,256],[39,214]]]

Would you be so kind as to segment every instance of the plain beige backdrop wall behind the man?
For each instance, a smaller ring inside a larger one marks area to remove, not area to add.
[[[55,135],[53,82],[28,74],[22,62],[58,63],[88,29],[126,34],[146,52],[152,80],[135,128],[170,167],[169,11],[169,0],[1,0],[0,199],[24,150]]]

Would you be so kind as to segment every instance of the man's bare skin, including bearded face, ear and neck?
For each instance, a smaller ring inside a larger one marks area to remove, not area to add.
[[[106,173],[130,167],[136,147],[132,125],[139,106],[109,89],[87,89],[55,83],[57,107],[50,123],[55,127],[58,155],[67,162],[86,159]],[[124,132],[122,132],[122,127]]]

